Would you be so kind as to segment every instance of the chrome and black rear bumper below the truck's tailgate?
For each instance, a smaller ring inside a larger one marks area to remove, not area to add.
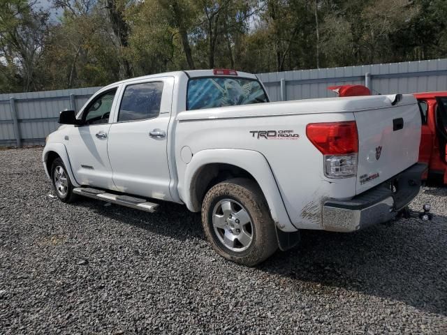
[[[416,163],[351,200],[326,201],[323,206],[323,229],[353,232],[369,225],[390,221],[416,198],[422,175],[426,170],[426,164]]]

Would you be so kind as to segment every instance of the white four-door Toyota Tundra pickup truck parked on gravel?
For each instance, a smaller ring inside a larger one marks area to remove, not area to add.
[[[302,229],[353,232],[406,209],[426,169],[420,122],[411,95],[270,103],[256,75],[179,71],[61,112],[43,165],[63,202],[201,211],[217,253],[256,265]]]

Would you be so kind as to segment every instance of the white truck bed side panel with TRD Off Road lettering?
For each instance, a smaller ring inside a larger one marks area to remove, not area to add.
[[[193,155],[206,149],[258,151],[270,164],[292,223],[298,228],[321,229],[323,202],[327,198],[353,197],[356,178],[327,179],[324,176],[323,156],[307,139],[306,126],[310,122],[351,120],[352,112],[179,120],[175,135],[179,180],[186,170],[180,154],[182,147],[190,147]],[[299,137],[266,139],[252,133],[257,131],[293,131]],[[180,194],[180,197],[184,195]]]

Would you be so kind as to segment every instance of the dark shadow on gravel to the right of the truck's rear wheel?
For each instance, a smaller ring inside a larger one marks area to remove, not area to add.
[[[259,269],[302,281],[318,295],[355,290],[447,315],[446,234],[435,240],[430,230],[439,227],[420,226],[411,221],[351,234],[304,231],[298,248],[278,252]]]

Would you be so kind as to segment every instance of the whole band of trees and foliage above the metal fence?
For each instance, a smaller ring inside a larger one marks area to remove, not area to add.
[[[445,0],[0,0],[0,92],[447,56]]]

